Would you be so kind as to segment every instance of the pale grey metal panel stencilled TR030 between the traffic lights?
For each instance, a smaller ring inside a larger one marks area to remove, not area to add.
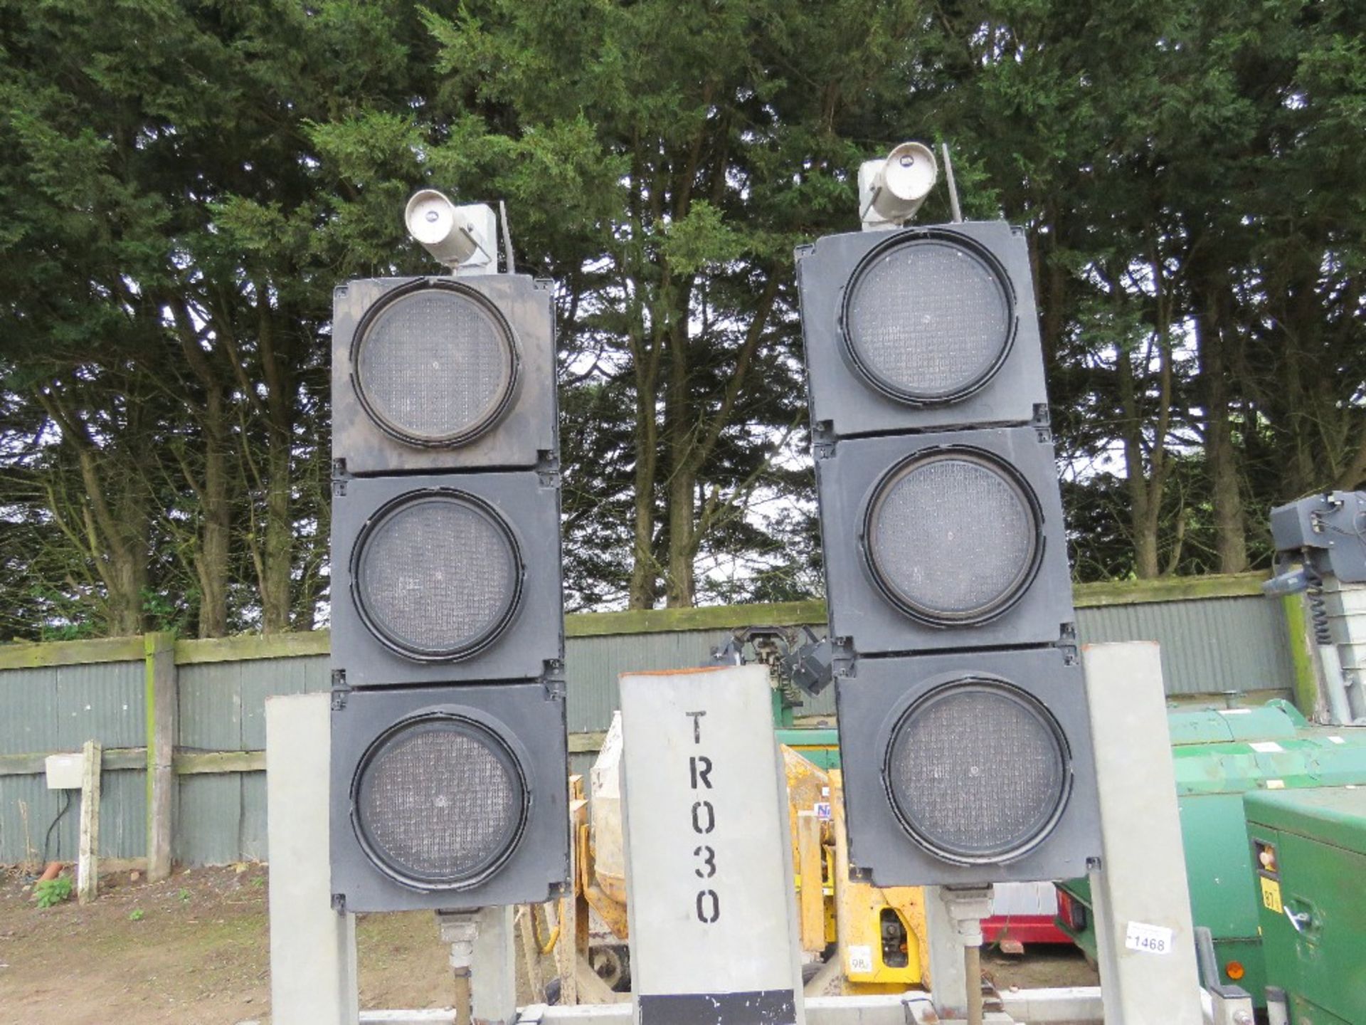
[[[800,1025],[768,667],[623,674],[622,734],[637,1022]]]

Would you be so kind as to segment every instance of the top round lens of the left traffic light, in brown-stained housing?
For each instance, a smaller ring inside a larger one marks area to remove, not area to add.
[[[357,332],[366,413],[417,446],[455,446],[489,429],[512,396],[516,347],[482,297],[448,287],[399,294]]]

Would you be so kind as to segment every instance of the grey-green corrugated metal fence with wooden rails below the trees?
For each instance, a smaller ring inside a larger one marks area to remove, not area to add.
[[[1280,603],[1253,575],[1078,588],[1082,641],[1154,640],[1168,693],[1195,698],[1227,690],[1295,693],[1295,644]],[[728,630],[749,623],[818,623],[820,603],[612,612],[567,620],[571,768],[587,771],[597,737],[617,707],[617,675],[703,664]],[[328,636],[239,637],[176,644],[179,730],[173,856],[184,864],[265,858],[265,698],[328,686]],[[141,638],[0,646],[0,862],[41,856],[60,804],[44,787],[41,756],[86,739],[113,756],[101,802],[101,856],[146,854],[148,737]],[[833,693],[798,711],[832,716]],[[227,754],[221,754],[227,753]],[[27,828],[20,815],[27,808]],[[75,856],[76,815],[53,834]],[[52,851],[55,853],[55,851]]]

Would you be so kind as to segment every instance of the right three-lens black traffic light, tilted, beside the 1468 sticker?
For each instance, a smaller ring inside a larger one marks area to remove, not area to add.
[[[796,256],[851,871],[1081,875],[1100,820],[1023,232]]]

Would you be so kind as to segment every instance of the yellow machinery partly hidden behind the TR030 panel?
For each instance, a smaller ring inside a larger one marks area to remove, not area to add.
[[[613,724],[615,726],[615,724]],[[837,954],[840,994],[902,992],[928,987],[925,895],[921,887],[880,888],[848,880],[839,769],[825,771],[783,745],[799,936],[810,955]],[[593,767],[593,809],[576,800],[574,823],[576,946],[609,985],[627,976],[626,872],[613,728]],[[582,798],[582,780],[575,778]],[[611,933],[590,939],[589,907]],[[825,976],[826,973],[821,973]]]

